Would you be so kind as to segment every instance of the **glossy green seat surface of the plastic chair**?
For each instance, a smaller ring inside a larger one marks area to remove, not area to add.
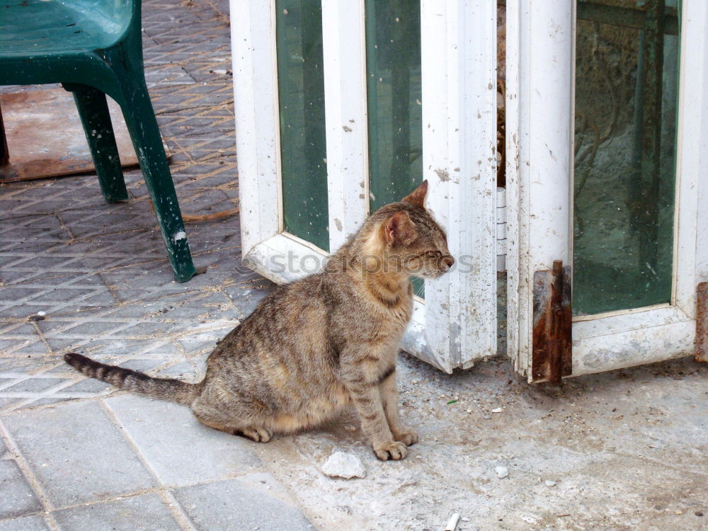
[[[112,13],[57,0],[6,0],[0,11],[0,59],[67,55],[112,46],[125,29]]]

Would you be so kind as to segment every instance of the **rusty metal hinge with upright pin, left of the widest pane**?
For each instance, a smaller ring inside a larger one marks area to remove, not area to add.
[[[554,260],[533,275],[531,381],[559,383],[573,373],[571,268]]]

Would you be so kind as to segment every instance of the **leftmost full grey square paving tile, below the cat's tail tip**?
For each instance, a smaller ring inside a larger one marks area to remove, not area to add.
[[[156,486],[95,401],[23,411],[2,421],[56,507]]]

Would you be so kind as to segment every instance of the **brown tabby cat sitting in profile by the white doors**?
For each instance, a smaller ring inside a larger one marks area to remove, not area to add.
[[[321,273],[273,290],[207,359],[198,384],[152,378],[76,353],[93,378],[190,406],[206,426],[268,442],[354,404],[379,459],[418,435],[399,421],[396,355],[413,310],[410,276],[452,267],[445,232],[423,206],[428,182],[374,212]]]

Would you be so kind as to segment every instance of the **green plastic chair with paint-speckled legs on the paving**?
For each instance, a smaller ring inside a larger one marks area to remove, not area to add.
[[[145,84],[140,7],[140,0],[5,0],[0,85],[60,83],[74,94],[108,202],[128,198],[105,95],[120,105],[175,278],[185,282],[195,269]]]

